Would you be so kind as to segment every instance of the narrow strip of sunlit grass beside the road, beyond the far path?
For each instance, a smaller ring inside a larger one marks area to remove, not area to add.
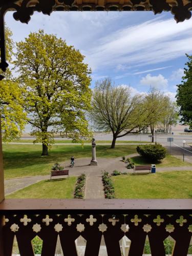
[[[16,142],[16,143],[33,143],[33,140],[25,140],[25,139],[20,139],[20,140],[12,140],[11,142]],[[72,140],[55,140],[55,143],[72,143]],[[85,140],[84,143],[90,143],[91,141]],[[112,143],[111,140],[97,140],[96,143],[102,144],[102,143]],[[121,143],[150,143],[150,141],[139,141],[139,140],[117,140],[117,144]]]

